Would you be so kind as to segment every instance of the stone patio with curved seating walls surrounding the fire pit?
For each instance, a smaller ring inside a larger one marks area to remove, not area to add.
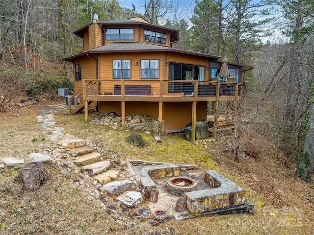
[[[245,190],[214,170],[202,172],[197,166],[128,160],[131,170],[146,190],[157,189],[158,201],[148,204],[150,211],[165,211],[166,220],[186,219],[208,214],[254,213],[254,205],[245,200]],[[129,166],[129,167],[130,167]],[[174,176],[197,181],[197,190],[174,195],[167,190],[167,180]],[[185,209],[175,211],[178,199]]]

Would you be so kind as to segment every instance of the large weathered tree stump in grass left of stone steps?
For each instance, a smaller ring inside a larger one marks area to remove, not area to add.
[[[22,167],[21,181],[24,188],[35,191],[47,181],[45,166],[39,162],[28,163]]]

